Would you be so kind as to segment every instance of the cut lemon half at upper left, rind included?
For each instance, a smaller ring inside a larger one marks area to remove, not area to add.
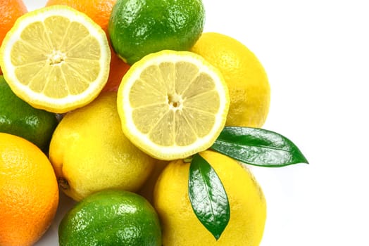
[[[21,16],[0,48],[0,66],[14,93],[35,108],[60,113],[99,95],[110,57],[101,27],[68,6]]]

